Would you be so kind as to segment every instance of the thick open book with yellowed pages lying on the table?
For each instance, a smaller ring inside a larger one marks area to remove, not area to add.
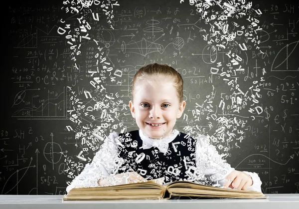
[[[100,185],[100,184],[99,184]],[[73,188],[63,200],[160,200],[172,196],[202,198],[266,199],[263,193],[247,190],[223,189],[201,185],[189,181],[162,184],[160,179],[140,180],[136,183],[101,186],[93,188]]]

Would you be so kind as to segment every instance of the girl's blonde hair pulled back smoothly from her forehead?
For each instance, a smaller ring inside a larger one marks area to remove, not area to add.
[[[148,64],[142,68],[140,68],[137,73],[135,74],[133,78],[133,84],[132,84],[132,102],[134,101],[134,91],[136,87],[136,83],[143,79],[148,79],[149,76],[165,76],[168,77],[172,83],[173,86],[176,89],[177,96],[179,99],[179,104],[183,101],[183,84],[184,81],[182,79],[182,76],[179,72],[177,72],[172,67],[168,66],[167,64],[158,64],[158,63],[152,63]]]

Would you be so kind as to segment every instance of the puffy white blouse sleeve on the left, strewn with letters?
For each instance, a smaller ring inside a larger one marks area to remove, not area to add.
[[[121,145],[118,136],[115,131],[109,134],[92,162],[87,163],[83,171],[66,188],[67,193],[73,188],[98,187],[98,180],[101,177],[118,171],[123,163],[123,159],[118,155],[118,146]]]

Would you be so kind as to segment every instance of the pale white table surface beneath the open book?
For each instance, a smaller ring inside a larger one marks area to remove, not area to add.
[[[61,195],[0,195],[0,209],[295,209],[299,194],[266,194],[267,199],[63,201]]]

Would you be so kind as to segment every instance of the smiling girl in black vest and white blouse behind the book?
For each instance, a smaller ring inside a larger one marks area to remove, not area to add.
[[[183,79],[175,69],[157,63],[142,67],[134,76],[129,102],[139,130],[110,133],[66,191],[98,187],[103,177],[137,172],[147,180],[164,177],[166,183],[185,180],[261,192],[259,176],[231,168],[208,137],[173,130],[185,105]]]

